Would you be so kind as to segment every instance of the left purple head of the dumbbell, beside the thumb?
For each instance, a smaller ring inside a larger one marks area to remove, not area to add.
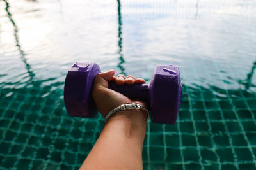
[[[95,117],[97,108],[92,99],[93,80],[100,73],[95,63],[76,62],[69,69],[64,86],[64,102],[72,117]]]

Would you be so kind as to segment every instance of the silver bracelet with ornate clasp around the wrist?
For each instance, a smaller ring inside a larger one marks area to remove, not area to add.
[[[149,111],[145,106],[137,103],[127,103],[127,104],[122,104],[121,106],[118,106],[117,108],[109,111],[108,115],[106,115],[105,122],[107,122],[108,118],[111,117],[111,115],[113,115],[117,111],[122,111],[122,110],[145,110],[148,115],[147,121],[149,119]]]

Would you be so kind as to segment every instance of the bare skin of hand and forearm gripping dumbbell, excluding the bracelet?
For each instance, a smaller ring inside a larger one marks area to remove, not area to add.
[[[121,104],[139,103],[108,89],[108,81],[118,85],[145,83],[143,78],[114,76],[113,70],[96,76],[93,99],[103,117]],[[99,139],[80,169],[143,169],[142,148],[146,132],[147,113],[141,110],[119,111],[109,117]]]

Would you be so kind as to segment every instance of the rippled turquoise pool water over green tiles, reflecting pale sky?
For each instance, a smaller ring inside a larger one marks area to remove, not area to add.
[[[256,169],[255,28],[255,1],[0,1],[0,169],[81,166],[104,119],[65,110],[76,61],[148,82],[180,67],[179,118],[148,122],[144,169]]]

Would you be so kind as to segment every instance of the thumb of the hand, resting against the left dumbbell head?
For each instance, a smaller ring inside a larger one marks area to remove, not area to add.
[[[106,71],[104,73],[99,73],[94,80],[96,86],[108,87],[108,81],[113,80],[115,71],[113,69]]]

